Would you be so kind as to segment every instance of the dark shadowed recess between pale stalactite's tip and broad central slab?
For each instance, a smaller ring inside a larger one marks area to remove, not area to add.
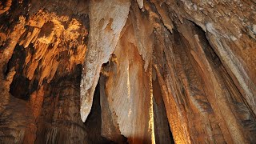
[[[107,69],[108,64],[102,66]],[[111,112],[105,93],[106,75],[101,74],[98,84],[94,91],[93,104],[86,122],[86,132],[91,143],[128,143],[127,138],[120,134],[114,121],[111,118]],[[106,130],[110,130],[106,134]]]

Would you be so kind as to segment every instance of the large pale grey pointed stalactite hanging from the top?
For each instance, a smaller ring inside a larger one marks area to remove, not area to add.
[[[80,111],[83,122],[90,113],[102,64],[108,62],[113,53],[129,10],[129,0],[90,2],[90,50],[86,54],[81,81]]]

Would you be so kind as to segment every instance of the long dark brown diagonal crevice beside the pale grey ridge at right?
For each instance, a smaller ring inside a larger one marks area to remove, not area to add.
[[[226,70],[226,67],[222,64],[221,59],[218,57],[218,52],[214,51],[214,47],[210,45],[210,39],[207,38],[206,33],[200,26],[196,25],[194,22],[192,23],[194,25],[194,33],[198,34],[198,38],[200,39],[200,44],[206,54],[206,58],[214,66],[229,93],[228,99],[232,102],[230,108],[235,111],[234,115],[238,118],[238,121],[241,122],[241,125],[246,127],[251,134],[254,134],[256,131],[256,116],[253,110],[239,90],[239,87],[236,85],[237,82],[234,82],[235,78],[232,78],[228,70]],[[250,141],[254,141],[254,138],[251,137]]]

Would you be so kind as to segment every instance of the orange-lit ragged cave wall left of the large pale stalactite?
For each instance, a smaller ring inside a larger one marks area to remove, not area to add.
[[[78,107],[86,2],[1,6],[10,6],[0,20],[1,143],[87,142]]]

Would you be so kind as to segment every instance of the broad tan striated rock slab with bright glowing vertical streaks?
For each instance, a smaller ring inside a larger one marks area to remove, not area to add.
[[[125,27],[110,66],[103,67],[107,77],[106,98],[112,119],[117,121],[128,142],[150,143],[154,141],[151,69],[144,71],[144,62],[134,46],[130,19]]]

